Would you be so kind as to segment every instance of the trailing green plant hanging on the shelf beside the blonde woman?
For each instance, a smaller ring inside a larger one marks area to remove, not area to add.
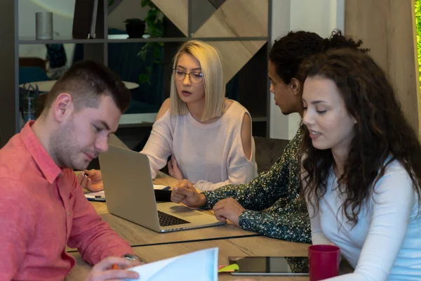
[[[152,0],[142,0],[140,3],[142,8],[146,6],[149,7],[149,11],[147,12],[147,16],[145,18],[146,22],[146,33],[149,34],[150,37],[162,37],[163,35],[163,13],[156,7]],[[146,67],[146,73],[142,73],[139,75],[139,82],[140,83],[148,83],[151,84],[150,76],[152,73],[153,64],[161,64],[161,47],[163,46],[162,42],[147,42],[142,48],[140,49],[138,55],[140,58],[145,61],[147,55],[152,53],[152,65]]]

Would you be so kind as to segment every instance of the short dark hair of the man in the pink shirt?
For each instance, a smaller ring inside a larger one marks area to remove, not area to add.
[[[76,110],[83,107],[98,107],[100,96],[111,96],[121,113],[131,100],[131,93],[121,81],[119,75],[101,63],[82,60],[74,63],[63,74],[48,93],[44,104],[44,114],[53,105],[60,93],[72,96]]]

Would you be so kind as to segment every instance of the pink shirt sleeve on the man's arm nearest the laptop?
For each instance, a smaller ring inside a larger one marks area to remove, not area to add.
[[[102,221],[92,204],[86,200],[76,176],[70,176],[74,181],[74,217],[67,243],[69,247],[76,247],[82,258],[91,264],[98,263],[107,256],[133,254],[130,244],[109,228],[108,223]]]

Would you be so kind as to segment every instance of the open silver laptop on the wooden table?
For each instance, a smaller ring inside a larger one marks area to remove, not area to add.
[[[107,208],[114,214],[159,233],[225,224],[215,216],[174,202],[156,204],[146,155],[109,145],[100,153]]]

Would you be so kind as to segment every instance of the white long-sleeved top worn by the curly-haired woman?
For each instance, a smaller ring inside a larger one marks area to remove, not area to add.
[[[335,243],[355,268],[328,280],[421,280],[421,215],[403,166],[394,161],[387,167],[354,228],[342,211],[344,195],[337,181],[332,171],[316,216],[308,204],[313,244]]]

